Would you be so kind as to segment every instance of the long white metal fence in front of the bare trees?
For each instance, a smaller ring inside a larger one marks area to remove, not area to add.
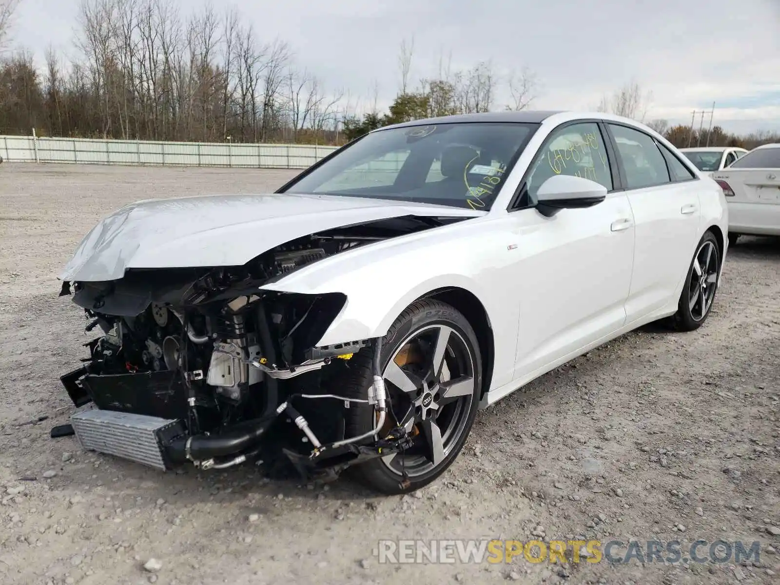
[[[330,154],[335,148],[301,144],[0,136],[0,157],[5,161],[80,165],[307,168]]]

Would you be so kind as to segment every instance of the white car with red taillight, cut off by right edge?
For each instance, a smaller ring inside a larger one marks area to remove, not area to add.
[[[729,244],[742,234],[780,236],[780,144],[753,148],[713,179],[729,202]]]

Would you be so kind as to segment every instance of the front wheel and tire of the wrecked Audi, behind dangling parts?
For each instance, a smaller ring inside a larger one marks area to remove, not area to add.
[[[423,371],[429,374],[435,371],[431,366],[440,353],[436,351],[436,340],[440,339],[447,339],[445,355],[441,360],[441,375],[433,375],[441,386],[429,380],[424,387],[429,392],[410,390],[421,386],[410,384],[413,380],[420,381],[417,374],[425,378]],[[372,347],[367,347],[349,360],[349,371],[335,381],[339,393],[349,398],[367,398],[374,379],[373,352]],[[428,358],[431,358],[430,363],[427,363]],[[406,370],[396,366],[399,362]],[[404,310],[388,330],[382,343],[380,363],[388,393],[388,417],[379,435],[383,437],[393,427],[405,426],[410,434],[415,434],[415,445],[403,454],[371,459],[347,471],[355,480],[375,491],[388,495],[405,494],[431,484],[463,449],[479,409],[480,348],[477,335],[463,314],[437,300],[421,300]],[[402,372],[402,379],[398,372]],[[406,372],[412,372],[413,379]],[[445,380],[448,377],[449,382]],[[406,385],[406,392],[400,389],[402,384],[393,383],[399,379]],[[415,403],[418,406],[415,407]],[[366,404],[346,410],[345,436],[349,438],[371,431],[375,424],[372,413],[373,408]],[[413,420],[404,420],[405,414],[407,419],[413,416]],[[449,426],[445,427],[448,421]],[[431,438],[436,429],[441,449],[435,446],[437,440]]]

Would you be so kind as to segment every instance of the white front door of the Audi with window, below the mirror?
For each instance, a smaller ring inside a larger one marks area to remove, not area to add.
[[[593,207],[551,217],[534,208],[535,193],[551,176],[566,174],[605,186]],[[617,178],[611,144],[596,121],[555,129],[525,179],[525,208],[512,211],[522,260],[517,264],[519,335],[515,378],[526,381],[572,359],[626,323],[634,226]]]

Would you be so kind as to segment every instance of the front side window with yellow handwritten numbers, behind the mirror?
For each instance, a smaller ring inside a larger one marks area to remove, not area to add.
[[[529,204],[544,181],[555,175],[590,179],[612,191],[612,171],[601,130],[594,122],[554,130],[531,163],[527,180]]]

